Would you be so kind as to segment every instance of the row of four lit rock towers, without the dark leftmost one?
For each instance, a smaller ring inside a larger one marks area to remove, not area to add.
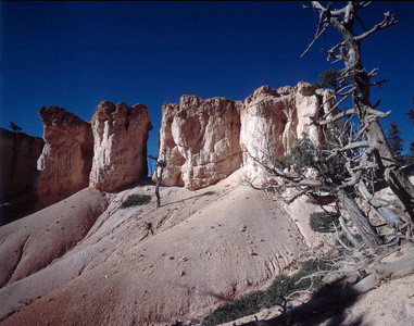
[[[324,112],[334,105],[331,91],[303,82],[278,89],[263,86],[244,101],[183,96],[179,103],[165,103],[159,139],[159,155],[167,162],[163,184],[200,189],[241,166],[248,177],[258,178],[263,168],[252,156],[274,161],[302,133],[321,142],[322,129],[311,122],[323,103]],[[86,187],[114,191],[148,174],[152,126],[143,104],[101,101],[90,123],[57,106],[39,114],[46,141],[38,160],[43,206]]]

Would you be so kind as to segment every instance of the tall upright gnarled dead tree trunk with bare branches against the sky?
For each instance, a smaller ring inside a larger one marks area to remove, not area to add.
[[[312,1],[310,8],[319,12],[319,21],[314,40],[311,42],[304,55],[314,42],[329,27],[334,27],[341,36],[342,41],[333,47],[330,50],[323,52],[328,54],[328,60],[334,59],[333,63],[343,61],[344,68],[340,71],[338,82],[340,89],[336,96],[342,99],[338,103],[343,102],[348,98],[352,98],[352,109],[342,111],[335,116],[325,114],[321,121],[315,122],[319,125],[326,125],[340,120],[344,116],[355,115],[361,124],[361,133],[366,136],[366,140],[352,143],[352,149],[365,148],[367,155],[375,159],[375,166],[369,166],[367,161],[354,162],[353,170],[366,171],[368,168],[377,170],[386,179],[391,190],[399,198],[399,204],[405,211],[412,221],[414,221],[414,186],[401,170],[399,162],[396,160],[391,147],[387,141],[387,137],[378,122],[379,117],[386,117],[390,114],[377,111],[380,100],[372,104],[369,98],[371,87],[381,85],[389,80],[380,80],[373,83],[372,77],[377,75],[377,68],[367,73],[361,62],[361,42],[372,34],[398,23],[393,15],[389,12],[385,13],[384,20],[371,29],[367,29],[359,16],[359,11],[368,7],[372,2],[355,3],[348,1],[348,4],[340,10],[331,10],[333,3],[329,2],[324,8],[318,1]],[[364,33],[355,35],[353,25],[355,20],[361,24]],[[344,148],[342,150],[349,150]],[[361,177],[361,176],[360,176]],[[355,184],[359,183],[359,175],[355,175]]]

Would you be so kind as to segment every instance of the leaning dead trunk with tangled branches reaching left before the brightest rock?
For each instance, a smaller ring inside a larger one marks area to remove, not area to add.
[[[266,135],[263,135],[266,139]],[[267,142],[267,140],[265,140]],[[266,147],[267,148],[267,147]],[[291,203],[302,196],[312,198],[321,198],[324,196],[334,196],[349,213],[352,224],[357,228],[364,242],[375,251],[381,244],[380,237],[369,224],[369,221],[354,199],[343,189],[349,186],[342,183],[342,177],[336,175],[335,164],[333,160],[328,161],[328,153],[331,150],[322,150],[314,145],[305,135],[299,140],[299,145],[292,151],[299,153],[293,154],[294,167],[293,172],[281,170],[272,160],[272,155],[267,150],[261,152],[261,158],[249,153],[250,158],[262,166],[271,176],[280,177],[279,183],[266,183],[265,185],[254,186],[254,181],[249,183],[253,188],[267,190],[272,189],[285,203]],[[304,158],[303,158],[304,156]],[[279,164],[281,161],[278,162]],[[310,177],[310,171],[317,172],[317,177]],[[352,178],[351,178],[352,179]],[[287,189],[289,189],[287,191]],[[289,193],[289,195],[286,195]]]

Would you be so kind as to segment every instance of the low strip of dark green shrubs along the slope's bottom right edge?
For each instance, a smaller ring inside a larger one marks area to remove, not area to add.
[[[202,323],[204,326],[214,326],[228,323],[248,315],[252,315],[262,309],[268,309],[284,303],[284,297],[299,290],[308,289],[311,285],[310,279],[296,284],[301,277],[317,271],[327,271],[330,267],[322,261],[306,261],[302,264],[301,271],[292,276],[279,275],[273,284],[263,291],[254,291],[240,299],[227,303],[206,316]],[[313,284],[322,280],[315,277]]]

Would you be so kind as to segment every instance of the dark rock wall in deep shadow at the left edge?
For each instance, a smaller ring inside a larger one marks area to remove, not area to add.
[[[45,141],[0,128],[0,225],[24,214],[36,202],[37,159]]]

